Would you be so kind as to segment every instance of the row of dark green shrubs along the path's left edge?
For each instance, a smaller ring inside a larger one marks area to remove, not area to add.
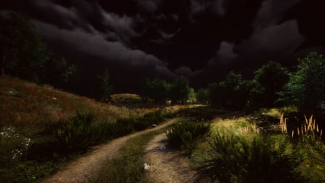
[[[122,137],[134,131],[144,130],[151,124],[165,121],[165,115],[160,110],[144,114],[140,118],[97,121],[97,117],[88,112],[77,112],[57,131],[57,137],[65,150],[86,150],[89,146],[99,144],[107,139]]]

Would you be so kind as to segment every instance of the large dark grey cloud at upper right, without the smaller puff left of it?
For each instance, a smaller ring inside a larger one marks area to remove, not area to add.
[[[300,0],[265,0],[253,21],[253,33],[235,47],[241,58],[281,59],[293,53],[305,40],[297,20],[279,24],[285,12]]]

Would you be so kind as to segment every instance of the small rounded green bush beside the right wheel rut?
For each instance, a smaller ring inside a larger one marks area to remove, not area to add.
[[[167,130],[168,143],[174,148],[180,148],[186,154],[192,153],[197,141],[205,137],[210,131],[210,125],[195,123],[192,121],[182,121],[181,124],[173,125]]]

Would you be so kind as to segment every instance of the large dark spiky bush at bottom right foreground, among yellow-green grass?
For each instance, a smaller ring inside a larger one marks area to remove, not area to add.
[[[303,182],[294,172],[303,157],[298,150],[288,152],[286,139],[257,136],[249,141],[219,130],[210,145],[210,157],[199,160],[199,170],[222,182]]]

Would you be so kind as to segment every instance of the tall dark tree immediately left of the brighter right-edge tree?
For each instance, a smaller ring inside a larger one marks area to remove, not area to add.
[[[252,82],[251,105],[256,107],[272,107],[278,99],[284,85],[289,80],[288,70],[276,62],[269,61],[255,71]]]

